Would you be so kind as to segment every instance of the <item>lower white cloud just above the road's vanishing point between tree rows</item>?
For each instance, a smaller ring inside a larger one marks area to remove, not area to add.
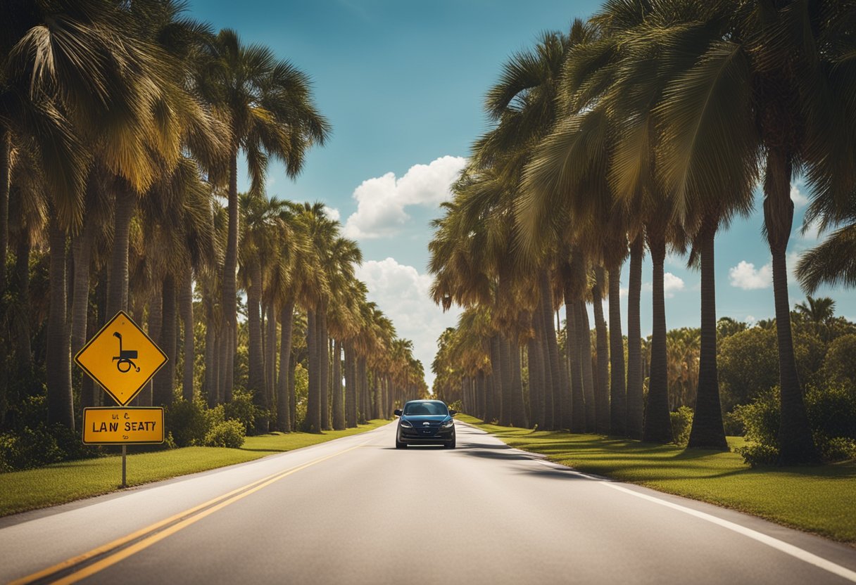
[[[395,334],[413,340],[413,357],[422,362],[425,381],[431,388],[437,338],[445,328],[455,327],[460,310],[443,313],[429,296],[431,276],[419,274],[413,266],[400,264],[395,258],[368,260],[356,269],[356,276],[366,283],[368,299],[392,320]]]

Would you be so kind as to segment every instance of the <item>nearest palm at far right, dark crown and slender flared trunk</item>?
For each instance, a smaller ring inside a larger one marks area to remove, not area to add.
[[[764,231],[773,257],[782,464],[818,460],[791,334],[785,262],[794,216],[790,181],[802,170],[816,199],[843,202],[852,193],[856,157],[850,129],[856,122],[843,88],[852,83],[853,73],[838,67],[852,51],[846,32],[851,15],[849,7],[835,2],[722,2],[700,19],[694,15],[689,23],[698,27],[694,38],[679,32],[687,21],[678,19],[674,27],[663,29],[660,39],[675,40],[678,50],[695,58],[687,74],[677,78],[673,94],[706,97],[704,103],[685,100],[683,115],[670,120],[671,133],[679,139],[670,139],[669,148],[681,156],[667,159],[669,176],[693,176],[696,169],[715,166],[701,156],[706,149],[730,149],[728,162],[739,158],[749,167],[764,153]],[[698,135],[693,127],[709,128],[693,145],[714,145],[681,151],[686,144],[680,137]]]

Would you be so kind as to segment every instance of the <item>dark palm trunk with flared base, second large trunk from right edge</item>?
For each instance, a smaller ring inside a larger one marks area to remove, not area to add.
[[[698,392],[688,446],[728,450],[716,375],[716,282],[713,258],[717,220],[708,220],[705,223],[709,225],[698,234],[701,259],[701,348],[698,356]]]

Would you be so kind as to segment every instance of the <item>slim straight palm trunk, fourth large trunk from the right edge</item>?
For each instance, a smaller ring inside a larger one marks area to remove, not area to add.
[[[630,280],[627,291],[627,436],[642,438],[642,329],[639,303],[642,295],[642,256],[645,241],[636,236],[630,245]]]

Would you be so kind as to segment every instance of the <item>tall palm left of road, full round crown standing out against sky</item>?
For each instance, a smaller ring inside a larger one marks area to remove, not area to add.
[[[237,334],[238,155],[247,157],[252,192],[262,192],[270,157],[286,173],[300,173],[306,151],[324,144],[330,125],[312,103],[310,80],[266,47],[241,44],[237,32],[223,29],[207,47],[197,85],[228,126],[229,236],[223,263],[222,297],[224,396],[231,398]]]

